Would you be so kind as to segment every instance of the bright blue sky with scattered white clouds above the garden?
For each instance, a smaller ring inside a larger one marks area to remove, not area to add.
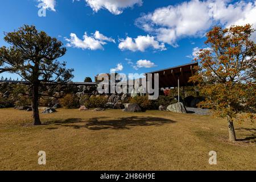
[[[255,1],[11,0],[0,12],[0,46],[8,46],[3,32],[33,24],[67,46],[59,60],[75,69],[73,81],[110,69],[144,73],[190,63],[212,26],[256,24]]]

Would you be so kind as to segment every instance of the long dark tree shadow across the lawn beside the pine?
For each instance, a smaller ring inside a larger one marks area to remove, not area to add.
[[[86,128],[89,130],[104,129],[131,129],[134,126],[162,126],[167,123],[175,123],[171,119],[157,117],[126,117],[109,119],[107,117],[90,118],[82,121],[80,118],[69,118],[63,121],[49,122],[46,125],[61,125],[65,127],[73,127],[74,129]]]

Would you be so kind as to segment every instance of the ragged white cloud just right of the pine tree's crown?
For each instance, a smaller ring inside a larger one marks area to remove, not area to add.
[[[99,31],[96,31],[94,35],[88,36],[85,32],[84,36],[82,36],[82,40],[77,37],[76,34],[71,33],[70,38],[65,38],[68,42],[67,47],[76,47],[81,49],[90,49],[90,50],[97,50],[97,49],[104,49],[104,45],[106,42],[115,42],[114,39],[108,38]]]

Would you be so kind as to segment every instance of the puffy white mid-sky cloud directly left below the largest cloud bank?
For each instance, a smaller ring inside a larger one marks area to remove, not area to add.
[[[126,39],[119,40],[118,48],[121,50],[128,49],[130,51],[142,51],[144,52],[147,48],[152,47],[154,49],[160,49],[161,51],[165,50],[166,47],[163,43],[159,43],[155,40],[154,36],[138,36],[135,39],[127,36]]]

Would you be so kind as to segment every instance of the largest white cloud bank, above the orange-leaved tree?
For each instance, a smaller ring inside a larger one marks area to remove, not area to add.
[[[135,22],[144,31],[156,36],[162,43],[177,46],[179,38],[203,36],[216,23],[230,25],[254,24],[256,28],[255,1],[191,0],[175,6],[156,9]]]

